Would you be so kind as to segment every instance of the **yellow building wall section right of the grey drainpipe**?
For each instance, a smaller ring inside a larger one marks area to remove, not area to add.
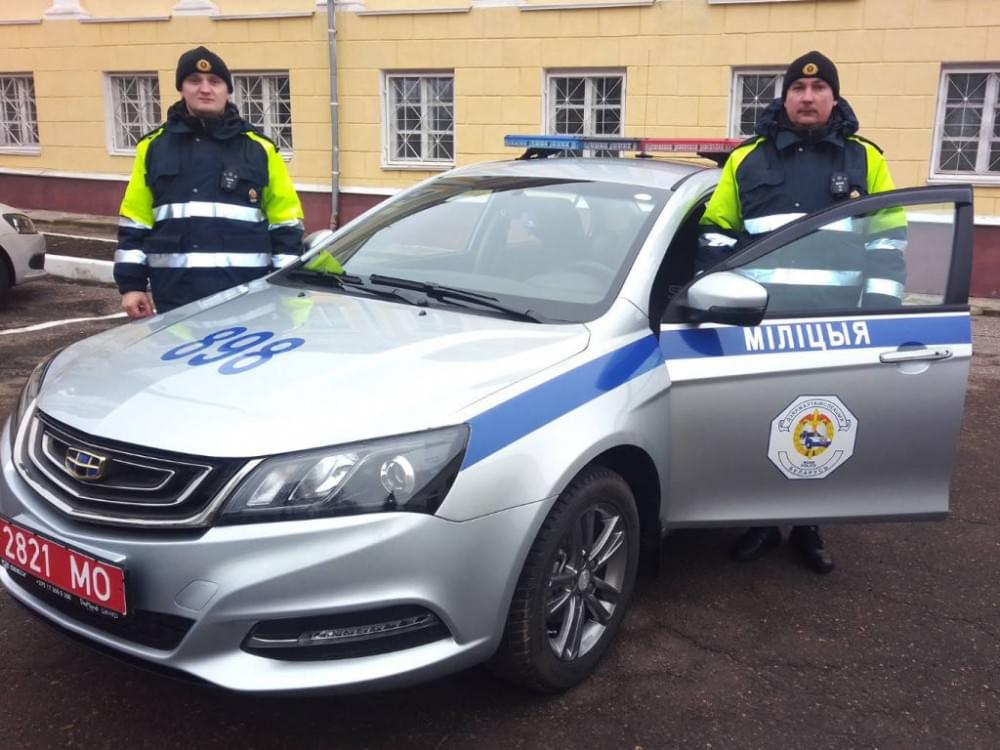
[[[837,63],[861,132],[883,147],[896,182],[913,186],[928,180],[942,64],[1000,63],[998,0],[473,7],[342,12],[337,25],[347,185],[422,176],[379,168],[382,70],[454,70],[456,162],[467,164],[513,156],[505,133],[540,131],[547,70],[625,71],[628,136],[719,138],[728,131],[734,67],[784,67],[819,49]],[[977,213],[1000,213],[1000,188],[977,189]]]

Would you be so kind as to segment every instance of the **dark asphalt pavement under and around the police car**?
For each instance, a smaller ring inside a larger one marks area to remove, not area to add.
[[[121,321],[12,331],[117,305],[110,287],[58,278],[15,289],[0,311],[0,415],[40,357]],[[829,576],[784,547],[733,563],[735,532],[673,534],[607,658],[565,694],[520,693],[480,669],[371,695],[224,693],[110,661],[0,592],[2,745],[995,750],[1000,318],[973,329],[947,521],[830,527]]]

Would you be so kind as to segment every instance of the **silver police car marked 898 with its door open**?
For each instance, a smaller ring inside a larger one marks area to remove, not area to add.
[[[594,670],[671,529],[944,517],[970,188],[845,201],[695,277],[718,174],[457,169],[266,279],[67,347],[0,440],[0,581],[233,690],[489,662],[555,691]],[[835,306],[865,269],[804,259],[877,247],[887,221],[898,304]]]

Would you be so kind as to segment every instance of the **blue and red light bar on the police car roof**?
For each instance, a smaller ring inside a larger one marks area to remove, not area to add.
[[[635,151],[640,154],[688,153],[718,164],[736,148],[738,138],[611,138],[594,135],[506,135],[505,146],[527,149],[525,157],[551,156],[564,151]]]

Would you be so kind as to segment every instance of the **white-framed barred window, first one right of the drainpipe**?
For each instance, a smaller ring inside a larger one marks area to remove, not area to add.
[[[455,161],[455,77],[391,73],[384,77],[386,166]]]

